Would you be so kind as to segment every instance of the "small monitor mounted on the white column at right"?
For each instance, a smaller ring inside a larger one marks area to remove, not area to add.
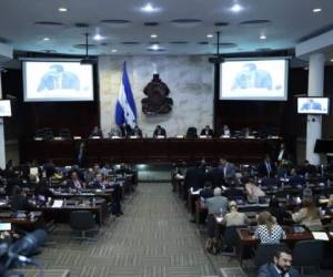
[[[300,114],[329,114],[329,98],[297,98],[297,113]]]

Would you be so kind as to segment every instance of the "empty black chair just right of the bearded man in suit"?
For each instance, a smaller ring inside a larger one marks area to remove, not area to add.
[[[317,267],[323,258],[324,243],[322,240],[297,242],[293,249],[293,265],[301,268],[303,275],[304,267]]]

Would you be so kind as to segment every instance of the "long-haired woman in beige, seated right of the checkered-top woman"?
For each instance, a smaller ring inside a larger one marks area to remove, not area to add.
[[[320,211],[312,198],[305,198],[303,201],[303,207],[292,214],[292,219],[297,224],[304,225],[310,230],[323,229]]]

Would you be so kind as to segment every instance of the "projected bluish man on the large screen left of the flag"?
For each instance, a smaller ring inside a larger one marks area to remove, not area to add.
[[[75,90],[80,91],[80,80],[75,73],[64,71],[61,64],[52,64],[41,78],[37,91],[44,90]]]

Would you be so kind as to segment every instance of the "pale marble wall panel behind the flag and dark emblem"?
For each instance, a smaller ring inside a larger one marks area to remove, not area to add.
[[[138,122],[143,134],[151,136],[157,124],[165,127],[168,136],[185,134],[189,126],[200,130],[213,123],[214,70],[205,55],[142,55],[99,58],[100,121],[105,134],[115,125],[114,107],[119,94],[122,64],[127,69],[138,109]],[[148,116],[142,113],[143,88],[159,73],[170,89],[172,112]]]

